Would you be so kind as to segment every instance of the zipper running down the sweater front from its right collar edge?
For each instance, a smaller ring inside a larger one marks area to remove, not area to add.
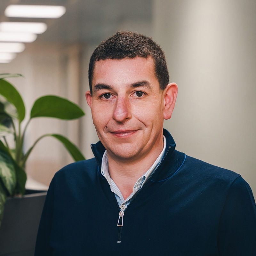
[[[118,236],[117,236],[117,243],[118,244],[121,244],[121,234],[122,234],[122,227],[123,227],[123,224],[124,224],[124,212],[126,211],[127,207],[134,201],[134,199],[138,196],[139,192],[145,187],[145,185],[148,184],[149,180],[154,176],[154,174],[156,173],[156,171],[158,170],[158,168],[160,167],[160,165],[164,162],[164,159],[166,158],[166,156],[168,155],[168,152],[170,150],[171,146],[169,146],[166,154],[164,155],[164,158],[162,159],[161,163],[158,165],[158,167],[156,168],[156,170],[151,174],[150,177],[148,177],[148,180],[146,180],[145,184],[143,185],[142,188],[139,189],[139,191],[134,195],[132,196],[132,199],[131,201],[127,204],[127,206],[125,207],[125,209],[122,211],[119,212],[119,216],[118,216],[118,221],[117,221],[117,227],[118,227]],[[113,196],[115,197],[115,195],[113,194]],[[116,199],[116,197],[115,197]],[[116,204],[118,206],[118,209],[120,210],[120,207],[116,201]]]

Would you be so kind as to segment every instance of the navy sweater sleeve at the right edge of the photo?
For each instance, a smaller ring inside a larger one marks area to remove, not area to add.
[[[256,255],[256,207],[252,190],[239,176],[229,188],[218,229],[221,256]]]

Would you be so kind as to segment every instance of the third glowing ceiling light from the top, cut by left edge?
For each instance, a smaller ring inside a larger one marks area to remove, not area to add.
[[[23,42],[31,43],[36,40],[36,34],[30,33],[12,33],[0,31],[0,42]]]

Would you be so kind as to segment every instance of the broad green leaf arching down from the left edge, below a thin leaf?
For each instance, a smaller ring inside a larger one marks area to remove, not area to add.
[[[25,105],[20,93],[4,79],[0,79],[0,94],[3,95],[17,109],[18,119],[21,122],[25,117]]]

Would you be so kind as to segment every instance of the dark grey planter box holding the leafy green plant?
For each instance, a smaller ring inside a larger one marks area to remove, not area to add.
[[[33,256],[46,192],[27,190],[23,197],[8,198],[0,226],[1,256]]]

